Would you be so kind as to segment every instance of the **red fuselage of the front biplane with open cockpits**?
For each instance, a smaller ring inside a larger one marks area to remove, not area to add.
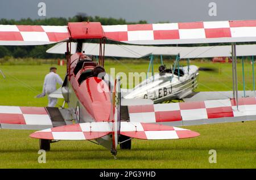
[[[80,103],[80,106],[82,106],[90,115],[89,119],[94,119],[96,122],[109,121],[111,98],[110,92],[108,91],[108,84],[97,77],[86,78],[79,84],[79,77],[82,72],[86,70],[93,70],[97,63],[84,63],[84,67],[82,67],[76,75],[74,73],[81,54],[82,53],[76,53],[71,56],[68,79],[73,92],[75,92],[77,97],[77,100],[75,98],[72,99],[73,101],[77,101],[72,102],[72,104]]]

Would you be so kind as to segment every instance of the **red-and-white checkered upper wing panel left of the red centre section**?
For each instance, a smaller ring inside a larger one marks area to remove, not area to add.
[[[0,25],[0,45],[44,45],[67,38],[67,26]]]

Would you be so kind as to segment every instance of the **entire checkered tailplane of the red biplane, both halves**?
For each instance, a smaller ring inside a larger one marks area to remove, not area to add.
[[[199,136],[184,128],[150,123],[121,122],[122,135],[137,139],[181,139]],[[113,122],[92,122],[48,128],[36,131],[31,138],[55,140],[90,140],[113,134]]]

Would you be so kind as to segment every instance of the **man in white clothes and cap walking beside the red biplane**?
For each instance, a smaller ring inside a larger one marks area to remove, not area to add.
[[[56,91],[56,83],[62,85],[63,80],[58,74],[56,74],[56,67],[51,67],[49,74],[44,78],[43,94],[49,95],[52,92]],[[57,98],[48,96],[48,107],[55,107],[57,104]]]

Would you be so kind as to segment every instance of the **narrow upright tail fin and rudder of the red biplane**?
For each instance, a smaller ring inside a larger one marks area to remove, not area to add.
[[[116,155],[117,145],[120,136],[120,125],[121,125],[121,80],[118,76],[115,79],[115,86],[113,91],[113,134],[112,134],[112,153]]]

